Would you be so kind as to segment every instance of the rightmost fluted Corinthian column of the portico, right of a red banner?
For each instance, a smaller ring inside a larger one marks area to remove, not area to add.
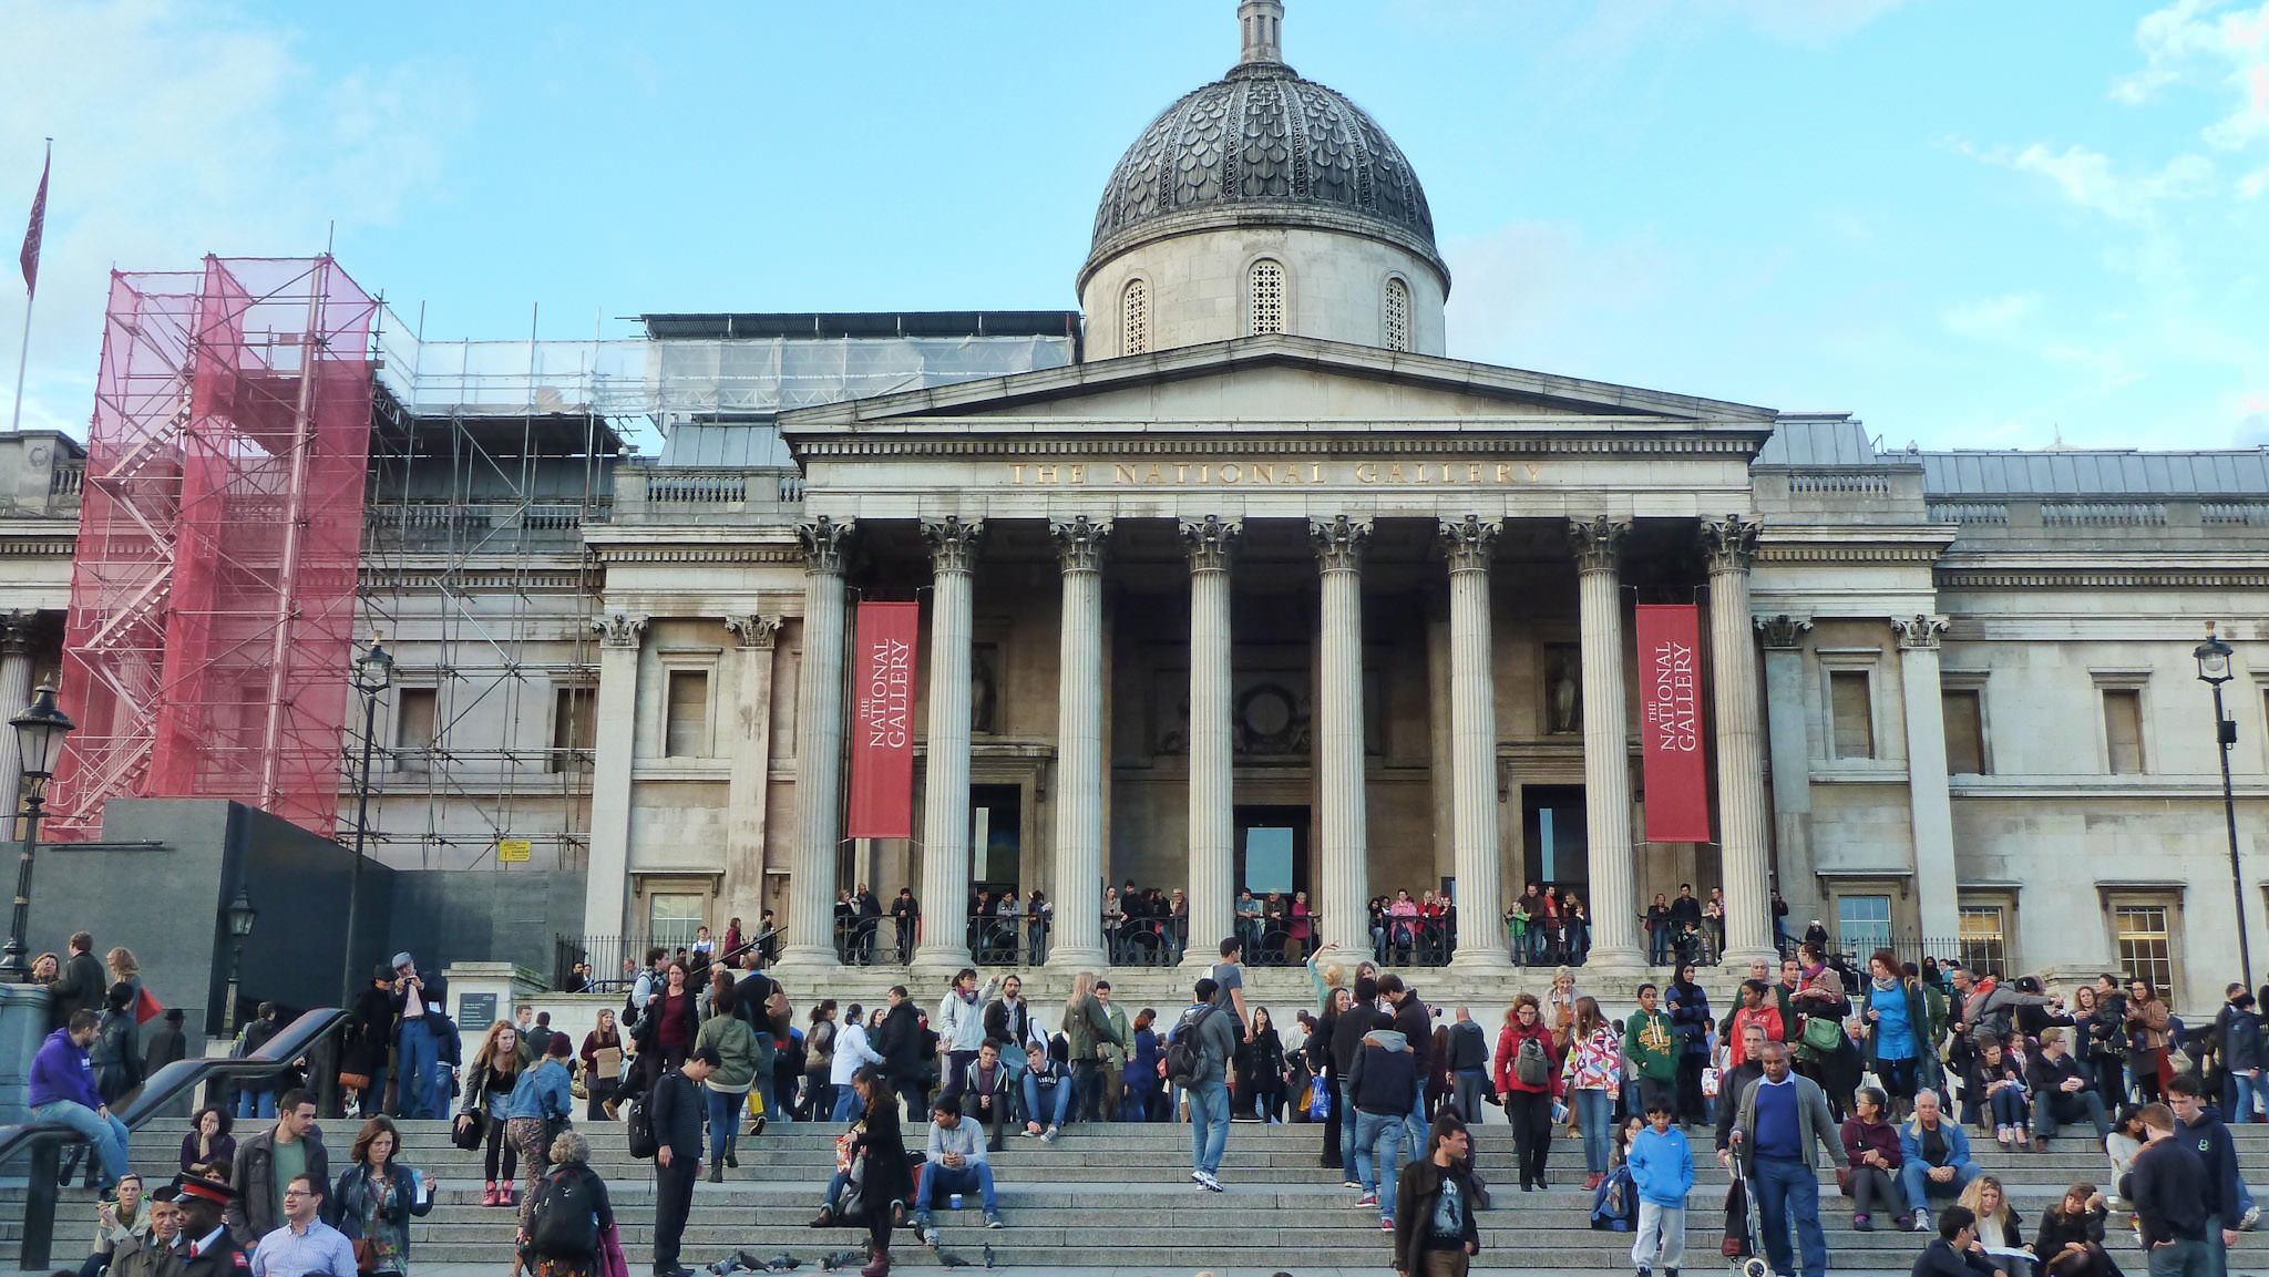
[[[1724,964],[1772,959],[1772,862],[1765,839],[1765,742],[1758,733],[1749,563],[1756,519],[1702,524],[1709,551],[1709,671],[1718,710],[1718,842],[1724,848]]]

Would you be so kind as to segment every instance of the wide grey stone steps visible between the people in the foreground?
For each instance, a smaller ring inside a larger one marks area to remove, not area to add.
[[[152,1177],[170,1175],[184,1130],[179,1120],[157,1120],[136,1132],[134,1164]],[[651,1166],[629,1157],[622,1127],[579,1123],[579,1130],[590,1136],[592,1166],[608,1182],[631,1270],[644,1272],[653,1241]],[[771,1127],[760,1139],[744,1136],[740,1168],[726,1170],[724,1184],[701,1182],[694,1191],[683,1261],[699,1268],[737,1250],[760,1261],[785,1252],[803,1261],[801,1270],[819,1270],[830,1250],[860,1252],[864,1232],[805,1227],[835,1166],[835,1130],[796,1125],[785,1132]],[[243,1134],[241,1130],[238,1136]],[[352,1134],[352,1123],[324,1123],[334,1175]],[[1709,1155],[1709,1132],[1695,1127],[1690,1134],[1697,1141],[1699,1166],[1686,1213],[1690,1254],[1684,1268],[1711,1270],[1724,1263],[1718,1243],[1727,1177]],[[501,1207],[481,1207],[479,1152],[456,1150],[442,1123],[408,1123],[404,1136],[404,1161],[440,1184],[433,1213],[411,1227],[413,1268],[508,1263],[515,1216]],[[919,1150],[923,1127],[908,1127],[905,1139]],[[1552,1186],[1543,1193],[1520,1193],[1511,1134],[1504,1125],[1479,1127],[1477,1143],[1484,1177],[1495,1193],[1495,1209],[1479,1216],[1479,1268],[1629,1268],[1629,1234],[1588,1227],[1591,1193],[1581,1191],[1579,1141],[1554,1141]],[[1386,1268],[1391,1248],[1389,1234],[1380,1232],[1377,1213],[1355,1207],[1355,1191],[1341,1189],[1341,1173],[1318,1166],[1318,1148],[1321,1127],[1314,1125],[1237,1123],[1221,1166],[1228,1191],[1205,1193],[1189,1182],[1189,1127],[1182,1125],[1076,1125],[1053,1145],[1010,1134],[1007,1148],[992,1157],[1007,1227],[985,1229],[971,1193],[960,1211],[939,1207],[935,1216],[942,1234],[939,1252],[923,1250],[914,1236],[901,1232],[892,1248],[894,1261],[939,1266],[958,1259],[982,1268],[985,1248],[992,1248],[994,1261],[1003,1268],[1046,1270],[1128,1263],[1159,1275],[1200,1268],[1296,1275],[1316,1268]],[[2237,1127],[2237,1148],[2246,1182],[2269,1186],[2269,1127]],[[2026,1218],[2026,1238],[2033,1236],[2042,1209],[2069,1184],[2108,1189],[2108,1161],[2085,1136],[2058,1139],[2047,1155],[2010,1155],[1992,1141],[1983,1141],[1976,1152],[1988,1173],[2008,1186],[2017,1211]],[[7,1245],[9,1268],[23,1229],[20,1166],[18,1161],[9,1168],[18,1179],[0,1189],[0,1243]],[[1856,1232],[1849,1207],[1836,1195],[1833,1175],[1822,1173],[1831,1268],[1906,1272],[1924,1238],[1892,1232],[1888,1220],[1879,1220],[1876,1232]],[[84,1257],[79,1248],[93,1234],[93,1216],[91,1193],[84,1189],[64,1193],[57,1211],[57,1266],[68,1268]],[[2128,1272],[2144,1270],[2126,1213],[2112,1213],[2108,1243]],[[2269,1241],[2262,1234],[2244,1234],[2230,1257],[2230,1270],[2264,1268],[2269,1268]]]

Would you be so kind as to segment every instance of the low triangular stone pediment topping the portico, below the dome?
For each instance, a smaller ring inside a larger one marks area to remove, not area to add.
[[[1366,422],[1434,429],[1534,422],[1550,429],[1584,420],[1625,429],[1756,431],[1770,429],[1774,411],[1486,363],[1262,336],[799,408],[781,415],[781,433],[794,442],[862,429],[973,429],[980,422],[998,422],[1005,431],[1110,431],[1139,424],[1332,429]]]

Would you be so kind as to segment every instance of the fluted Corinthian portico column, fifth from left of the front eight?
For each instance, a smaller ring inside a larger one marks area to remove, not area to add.
[[[1370,519],[1309,519],[1323,569],[1323,631],[1316,669],[1316,789],[1323,798],[1323,941],[1370,946],[1370,857],[1364,801],[1364,549]]]

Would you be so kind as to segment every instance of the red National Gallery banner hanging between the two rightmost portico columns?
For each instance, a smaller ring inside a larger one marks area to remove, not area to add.
[[[1647,842],[1711,842],[1702,758],[1702,621],[1693,603],[1638,606],[1638,755]]]

